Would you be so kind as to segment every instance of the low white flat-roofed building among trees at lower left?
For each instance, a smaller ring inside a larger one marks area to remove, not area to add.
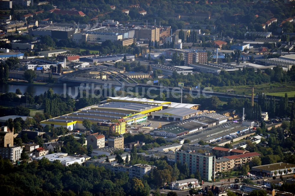
[[[63,166],[68,166],[74,163],[78,163],[79,165],[82,165],[82,163],[85,162],[84,157],[78,157],[78,156],[70,156],[68,153],[53,153],[53,154],[47,154],[41,157],[35,157],[35,160],[41,160],[43,158],[48,159],[50,162],[54,162],[56,160],[59,160]]]

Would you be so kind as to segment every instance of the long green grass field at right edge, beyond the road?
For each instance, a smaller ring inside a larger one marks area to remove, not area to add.
[[[251,95],[253,87],[254,87],[255,94],[258,92],[263,92],[263,93],[266,93],[267,95],[285,96],[285,93],[287,92],[289,97],[294,97],[295,95],[294,93],[295,82],[261,84],[261,85],[244,85],[244,86],[222,86],[222,87],[214,87],[213,90],[215,92],[227,93],[227,89],[233,89],[234,94]],[[273,93],[279,93],[279,94],[273,94]]]

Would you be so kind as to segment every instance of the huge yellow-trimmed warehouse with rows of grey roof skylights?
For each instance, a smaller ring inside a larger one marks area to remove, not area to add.
[[[165,105],[165,106],[164,106]],[[149,115],[170,106],[169,101],[146,98],[107,97],[106,103],[42,121],[41,125],[63,126],[69,130],[85,129],[84,119],[97,123],[99,130],[124,134],[126,126],[146,122]],[[175,105],[175,103],[173,103]],[[198,105],[190,104],[192,108]],[[197,110],[194,110],[197,111]]]

